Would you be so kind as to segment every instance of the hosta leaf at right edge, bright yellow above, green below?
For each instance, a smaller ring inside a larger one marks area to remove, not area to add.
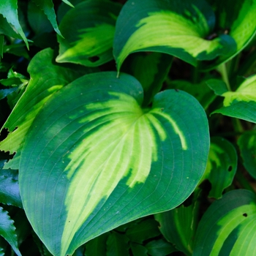
[[[244,80],[236,91],[227,91],[223,107],[213,113],[241,118],[256,123],[256,75]]]

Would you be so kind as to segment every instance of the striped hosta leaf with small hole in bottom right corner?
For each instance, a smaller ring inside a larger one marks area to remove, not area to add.
[[[228,192],[200,220],[193,255],[255,255],[255,217],[255,193]]]

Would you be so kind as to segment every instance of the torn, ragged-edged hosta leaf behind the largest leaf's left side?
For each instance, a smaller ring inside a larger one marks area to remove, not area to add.
[[[79,68],[74,70],[61,67],[54,64],[52,59],[53,50],[46,49],[37,53],[37,56],[29,64],[28,71],[31,75],[29,85],[4,124],[10,134],[5,140],[1,141],[0,148],[2,151],[10,151],[11,154],[18,152],[14,159],[7,163],[6,168],[18,169],[23,140],[26,138],[26,133],[35,116],[45,102],[61,87],[85,72],[85,70]]]

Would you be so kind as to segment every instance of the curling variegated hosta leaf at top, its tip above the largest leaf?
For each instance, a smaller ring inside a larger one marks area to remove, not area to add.
[[[129,53],[157,51],[192,65],[236,51],[226,34],[211,38],[215,16],[204,0],[129,0],[116,22],[114,56],[118,70]]]

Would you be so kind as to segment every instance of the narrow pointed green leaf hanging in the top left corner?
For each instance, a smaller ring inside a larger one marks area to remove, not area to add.
[[[28,40],[18,20],[18,0],[0,1],[0,13],[7,19],[8,23],[14,26],[18,34],[20,34],[20,37],[22,37],[26,43],[26,47],[29,48]]]

